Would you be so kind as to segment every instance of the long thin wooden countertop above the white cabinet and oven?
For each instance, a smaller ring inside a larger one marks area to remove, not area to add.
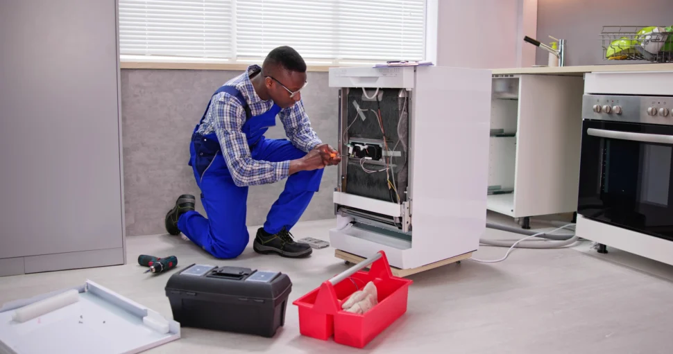
[[[664,64],[615,64],[582,65],[576,67],[528,67],[510,69],[492,69],[493,75],[538,74],[583,76],[584,73],[615,71],[673,71],[673,63]]]

